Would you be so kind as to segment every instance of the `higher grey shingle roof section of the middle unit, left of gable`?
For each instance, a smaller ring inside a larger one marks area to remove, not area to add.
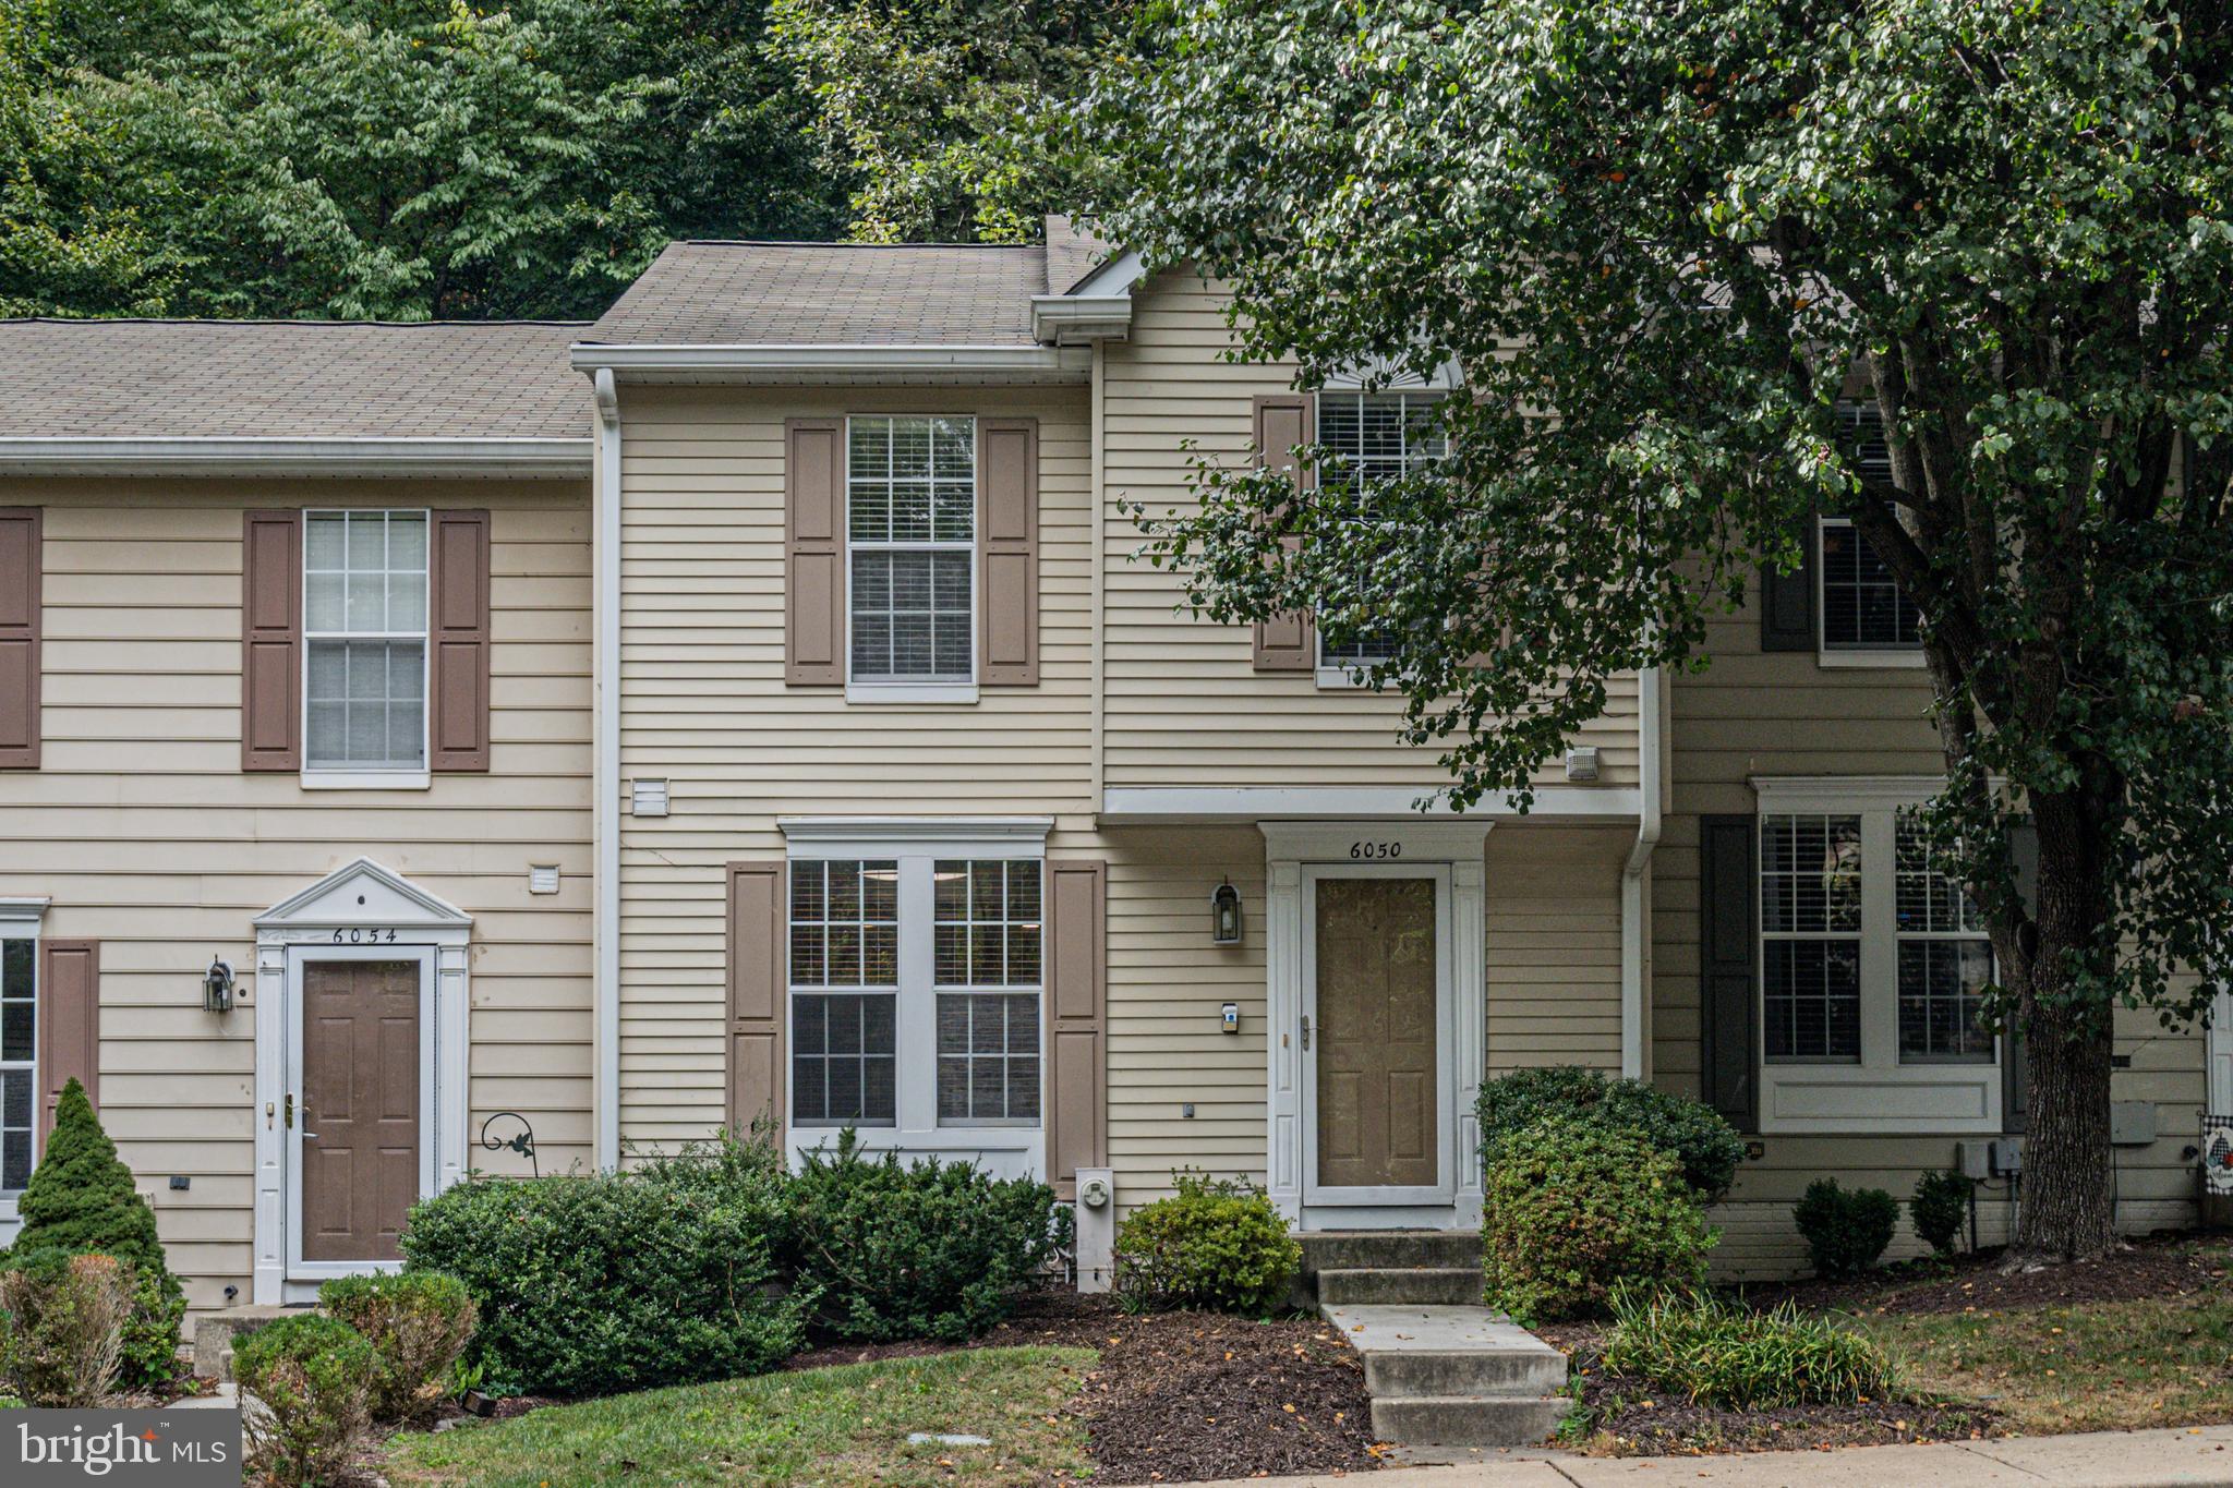
[[[603,346],[1034,346],[1047,250],[668,243],[581,339]]]

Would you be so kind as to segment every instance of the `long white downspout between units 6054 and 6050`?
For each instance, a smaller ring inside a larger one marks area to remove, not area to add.
[[[621,390],[596,368],[596,1167],[621,1165]]]

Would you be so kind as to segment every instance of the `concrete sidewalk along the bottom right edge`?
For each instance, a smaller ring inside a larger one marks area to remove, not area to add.
[[[1836,1452],[1731,1457],[1489,1455],[1451,1468],[1396,1468],[1346,1477],[1257,1477],[1248,1488],[1887,1488],[1996,1484],[2005,1488],[2233,1488],[2233,1426],[2191,1430],[2016,1437],[1943,1446],[1862,1446]],[[1228,1486],[1217,1486],[1228,1488]],[[1239,1488],[1233,1484],[1230,1488]]]

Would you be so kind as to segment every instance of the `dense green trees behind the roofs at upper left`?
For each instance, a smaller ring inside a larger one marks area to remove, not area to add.
[[[590,317],[668,239],[1023,239],[1081,0],[0,0],[0,315]]]

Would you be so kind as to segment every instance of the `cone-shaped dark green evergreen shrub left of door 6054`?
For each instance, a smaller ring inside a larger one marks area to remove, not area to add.
[[[134,1305],[125,1323],[121,1383],[161,1385],[179,1372],[185,1289],[170,1274],[154,1209],[132,1187],[132,1169],[100,1129],[85,1086],[71,1080],[54,1113],[54,1133],[18,1202],[22,1229],[9,1256],[100,1254],[132,1267]]]

